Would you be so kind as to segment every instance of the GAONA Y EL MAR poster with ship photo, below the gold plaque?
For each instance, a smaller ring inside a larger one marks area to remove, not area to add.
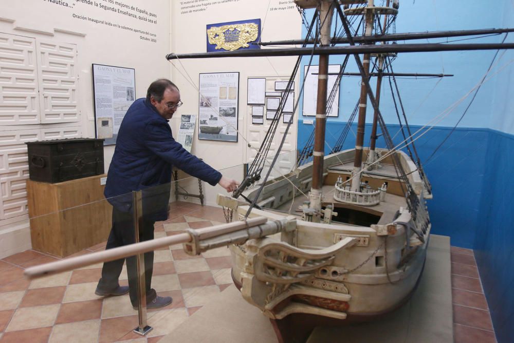
[[[198,139],[236,142],[239,73],[204,73],[199,78]]]

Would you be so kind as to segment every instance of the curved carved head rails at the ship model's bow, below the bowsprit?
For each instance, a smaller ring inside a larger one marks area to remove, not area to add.
[[[356,238],[347,237],[324,249],[301,249],[271,238],[250,240],[241,273],[242,295],[269,318],[323,313],[344,319],[351,296],[342,283],[323,280],[321,270],[355,243]]]

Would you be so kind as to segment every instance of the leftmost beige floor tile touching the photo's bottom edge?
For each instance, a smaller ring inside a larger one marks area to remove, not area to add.
[[[74,342],[89,343],[98,341],[100,319],[57,324],[53,327],[48,343]]]

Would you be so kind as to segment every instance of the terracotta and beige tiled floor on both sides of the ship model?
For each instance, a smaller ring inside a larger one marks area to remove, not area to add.
[[[156,223],[155,237],[224,222],[219,208],[174,203],[170,218]],[[76,255],[104,247],[98,244]],[[454,341],[494,342],[472,254],[472,250],[452,247]],[[149,311],[148,322],[154,330],[146,337],[132,332],[138,317],[128,295],[94,294],[101,264],[28,281],[24,268],[57,259],[33,250],[7,257],[0,260],[0,343],[156,342],[231,284],[229,256],[225,247],[195,257],[185,254],[180,245],[155,251],[152,287],[159,295],[172,296],[173,303]],[[121,279],[126,284],[125,270]]]

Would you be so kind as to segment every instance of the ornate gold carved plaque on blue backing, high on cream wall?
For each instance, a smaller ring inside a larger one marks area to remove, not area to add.
[[[209,44],[216,45],[215,49],[228,51],[247,48],[259,35],[259,26],[254,23],[223,25],[207,30]]]

